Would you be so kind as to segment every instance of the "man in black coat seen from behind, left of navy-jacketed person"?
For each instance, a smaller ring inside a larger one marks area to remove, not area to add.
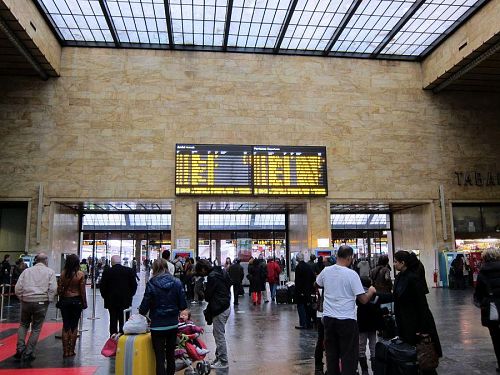
[[[109,334],[123,333],[123,310],[132,305],[137,290],[136,274],[129,267],[123,267],[118,255],[111,257],[111,268],[104,270],[101,277],[101,296],[104,308],[109,312]]]

